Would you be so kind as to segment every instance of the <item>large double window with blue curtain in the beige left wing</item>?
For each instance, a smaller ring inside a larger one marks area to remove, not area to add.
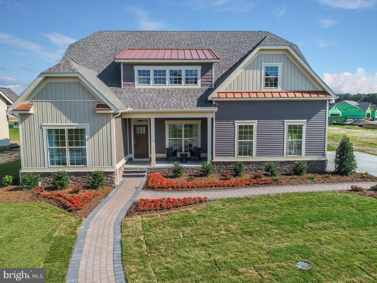
[[[86,166],[86,129],[47,129],[50,166]]]

